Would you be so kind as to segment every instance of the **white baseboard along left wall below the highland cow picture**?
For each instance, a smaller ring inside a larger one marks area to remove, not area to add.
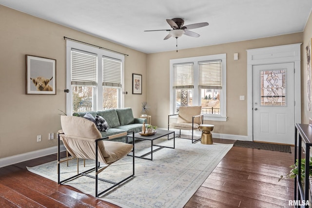
[[[60,145],[60,151],[65,151],[65,147],[64,145]],[[5,167],[5,166],[9,166],[9,165],[13,165],[16,163],[20,163],[20,162],[24,162],[27,160],[32,160],[38,157],[43,157],[46,155],[50,155],[50,154],[55,154],[58,152],[58,147],[50,147],[50,148],[46,148],[46,149],[42,149],[42,150],[37,150],[37,151],[30,151],[30,152],[26,152],[23,154],[18,154],[18,155],[14,155],[14,156],[10,156],[10,157],[4,157],[4,158],[0,158],[0,168]]]

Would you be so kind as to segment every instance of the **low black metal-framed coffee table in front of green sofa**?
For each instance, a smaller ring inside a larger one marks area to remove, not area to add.
[[[167,136],[168,135],[168,138],[169,138],[169,134],[174,134],[174,137],[170,138],[170,139],[173,139],[174,140],[174,146],[173,147],[167,147],[167,146],[160,146],[160,145],[154,145],[153,142],[154,140],[158,139],[158,138],[161,138],[161,137],[164,137],[164,136]],[[141,140],[150,140],[151,141],[151,151],[145,153],[145,154],[142,154],[140,156],[136,156],[135,157],[138,157],[138,158],[143,158],[143,159],[147,159],[147,160],[153,160],[153,152],[155,151],[158,151],[158,150],[161,150],[163,148],[171,148],[171,149],[175,149],[175,143],[176,143],[176,140],[175,140],[175,137],[176,137],[176,134],[175,134],[175,131],[168,131],[168,130],[156,130],[156,133],[153,134],[153,135],[150,135],[150,136],[142,136],[140,135],[139,133],[135,133],[135,138],[136,139],[141,139]],[[128,143],[128,138],[132,138],[132,134],[131,135],[127,135],[126,137],[126,143]],[[133,139],[133,141],[135,141]],[[156,147],[159,147],[155,150],[153,150],[153,146],[156,146]],[[151,155],[151,158],[147,158],[145,156],[147,155]],[[132,155],[131,155],[132,156]]]

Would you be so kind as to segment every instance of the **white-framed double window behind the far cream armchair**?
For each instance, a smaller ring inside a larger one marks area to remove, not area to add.
[[[205,120],[226,121],[226,54],[170,60],[170,112],[202,106]]]

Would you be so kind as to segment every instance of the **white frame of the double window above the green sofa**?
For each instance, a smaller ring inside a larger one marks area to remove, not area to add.
[[[85,45],[71,40],[66,40],[66,89],[69,89],[69,93],[66,93],[66,113],[73,114],[72,109],[72,85],[71,85],[71,51],[72,49],[78,51],[84,51],[86,53],[97,54],[97,86],[94,88],[94,111],[103,110],[103,89],[102,89],[102,77],[103,77],[103,57],[112,57],[121,60],[121,88],[119,91],[118,108],[124,107],[124,56],[114,52],[110,52],[104,49],[96,48],[93,46]]]

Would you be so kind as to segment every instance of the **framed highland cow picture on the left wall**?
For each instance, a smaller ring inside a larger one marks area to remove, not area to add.
[[[26,95],[56,95],[57,60],[26,55]]]

